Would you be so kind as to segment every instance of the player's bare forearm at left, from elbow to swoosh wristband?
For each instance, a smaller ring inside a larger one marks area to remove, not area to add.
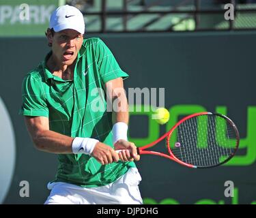
[[[74,138],[51,130],[39,131],[33,136],[33,142],[36,148],[49,153],[72,153],[73,140]]]

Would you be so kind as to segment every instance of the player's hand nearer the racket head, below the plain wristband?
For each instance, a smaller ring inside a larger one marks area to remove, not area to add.
[[[137,153],[137,146],[133,142],[126,140],[118,140],[114,144],[115,150],[122,150],[118,153],[119,159],[122,161],[139,161],[140,155]]]

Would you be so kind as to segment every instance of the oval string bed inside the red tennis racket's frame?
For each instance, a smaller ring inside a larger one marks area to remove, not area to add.
[[[236,150],[236,130],[222,116],[195,116],[181,123],[171,152],[177,159],[195,166],[216,166]],[[178,146],[176,146],[176,144]]]

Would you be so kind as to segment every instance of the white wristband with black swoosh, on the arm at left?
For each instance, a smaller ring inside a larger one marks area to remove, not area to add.
[[[94,151],[94,147],[99,140],[94,138],[74,138],[72,142],[72,151],[74,154],[87,154],[90,155]]]

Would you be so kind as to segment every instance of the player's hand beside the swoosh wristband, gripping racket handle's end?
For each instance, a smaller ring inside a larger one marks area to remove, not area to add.
[[[119,156],[111,146],[97,142],[91,156],[96,158],[102,165],[119,161]]]

